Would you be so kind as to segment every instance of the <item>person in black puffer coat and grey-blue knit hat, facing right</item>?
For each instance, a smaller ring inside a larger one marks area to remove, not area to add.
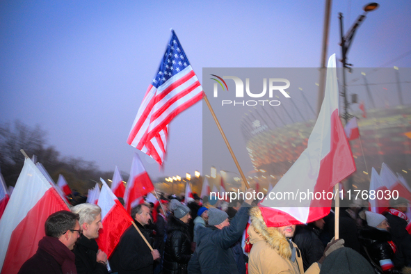
[[[191,259],[191,241],[188,222],[191,220],[190,209],[186,205],[171,200],[168,218],[167,240],[164,248],[164,274],[186,274],[187,264]]]

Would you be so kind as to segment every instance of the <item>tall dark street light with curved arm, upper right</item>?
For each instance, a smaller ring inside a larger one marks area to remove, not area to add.
[[[344,30],[343,30],[343,15],[342,13],[339,13],[339,27],[340,27],[340,33],[341,33],[341,53],[342,53],[342,59],[341,63],[343,63],[343,92],[341,92],[341,96],[344,97],[344,120],[347,123],[348,122],[348,117],[351,116],[348,114],[348,100],[346,96],[346,67],[350,67],[353,64],[347,63],[347,53],[348,49],[350,49],[351,42],[353,42],[353,38],[355,35],[355,31],[357,31],[358,27],[360,24],[364,21],[366,18],[365,15],[369,13],[372,10],[376,10],[378,8],[378,3],[369,3],[364,8],[364,13],[360,15],[353,26],[351,26],[351,29],[346,33],[344,36]]]

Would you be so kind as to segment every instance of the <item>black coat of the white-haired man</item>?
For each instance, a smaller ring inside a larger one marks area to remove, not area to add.
[[[105,264],[97,263],[99,246],[95,239],[81,235],[74,246],[77,274],[108,274]]]

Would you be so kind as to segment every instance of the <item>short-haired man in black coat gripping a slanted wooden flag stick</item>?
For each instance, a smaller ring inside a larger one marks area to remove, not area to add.
[[[151,243],[150,230],[144,228],[150,220],[150,208],[145,204],[139,204],[131,209],[131,217],[134,218],[145,239]],[[152,274],[154,260],[160,257],[159,250],[150,251],[134,225],[131,225],[122,235],[117,255],[118,274]]]

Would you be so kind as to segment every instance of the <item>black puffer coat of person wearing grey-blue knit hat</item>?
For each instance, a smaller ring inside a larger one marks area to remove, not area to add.
[[[163,273],[185,274],[191,259],[191,241],[188,225],[170,215],[164,248]]]

